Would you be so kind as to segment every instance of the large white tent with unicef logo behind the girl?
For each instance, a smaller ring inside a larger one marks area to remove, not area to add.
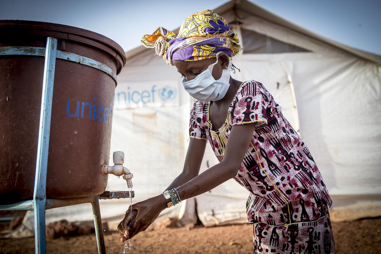
[[[381,215],[381,56],[323,38],[247,0],[214,11],[244,47],[233,58],[241,70],[234,78],[263,83],[299,130],[336,206],[331,214]],[[125,166],[134,174],[133,202],[160,194],[181,173],[189,139],[194,99],[182,88],[176,68],[154,54],[143,46],[128,51],[115,92],[110,164],[112,152],[125,152]],[[206,150],[201,171],[217,163]],[[126,190],[127,185],[109,176],[108,188]],[[196,201],[204,225],[247,222],[247,196],[229,180],[163,214],[194,222]],[[127,200],[101,202],[103,218],[127,208]],[[85,209],[87,217],[76,213],[76,220],[91,219],[90,206]],[[57,214],[54,210],[47,216]]]

